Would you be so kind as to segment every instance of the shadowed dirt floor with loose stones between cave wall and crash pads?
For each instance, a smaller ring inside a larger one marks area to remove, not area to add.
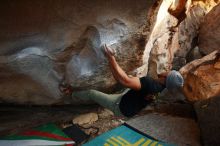
[[[149,113],[195,119],[194,110],[188,103],[154,101],[139,114]],[[82,115],[85,115],[82,117]],[[13,134],[45,123],[56,123],[61,128],[78,125],[92,139],[132,118],[116,117],[98,105],[84,106],[0,106],[0,136]],[[88,140],[89,140],[88,139]],[[87,141],[88,141],[87,140]]]

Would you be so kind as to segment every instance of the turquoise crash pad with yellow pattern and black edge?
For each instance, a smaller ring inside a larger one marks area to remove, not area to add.
[[[110,130],[83,146],[174,146],[155,140],[124,124]]]

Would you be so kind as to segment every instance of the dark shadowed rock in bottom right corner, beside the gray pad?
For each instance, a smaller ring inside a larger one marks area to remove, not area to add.
[[[220,96],[196,102],[201,137],[204,146],[220,145]]]

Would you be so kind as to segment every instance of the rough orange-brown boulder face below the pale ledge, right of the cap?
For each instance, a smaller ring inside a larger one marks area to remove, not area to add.
[[[186,78],[185,93],[190,101],[208,99],[220,95],[220,59],[199,66]]]

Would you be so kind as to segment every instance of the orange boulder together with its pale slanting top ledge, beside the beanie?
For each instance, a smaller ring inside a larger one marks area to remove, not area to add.
[[[220,55],[213,52],[180,70],[185,76],[183,90],[188,100],[197,101],[220,95],[219,64]]]

